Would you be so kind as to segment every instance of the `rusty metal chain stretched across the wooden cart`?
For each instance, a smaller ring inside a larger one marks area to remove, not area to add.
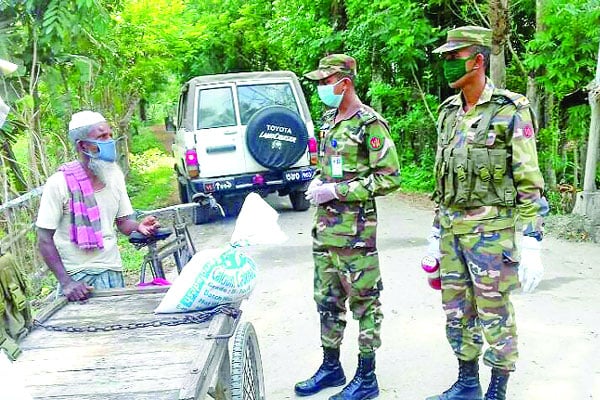
[[[169,319],[155,319],[152,321],[146,322],[130,322],[126,325],[122,324],[111,324],[104,326],[60,326],[60,325],[47,325],[39,322],[38,320],[33,320],[33,325],[36,327],[44,328],[47,331],[53,332],[71,332],[71,333],[84,333],[84,332],[110,332],[110,331],[118,331],[121,329],[139,329],[139,328],[148,328],[148,327],[158,327],[158,326],[176,326],[176,325],[186,325],[186,324],[201,324],[203,322],[209,321],[213,316],[217,314],[225,314],[229,315],[232,318],[237,318],[240,313],[240,310],[237,308],[233,308],[231,306],[222,305],[217,306],[213,309],[207,311],[199,311],[193,314],[185,314],[182,317],[173,317]]]

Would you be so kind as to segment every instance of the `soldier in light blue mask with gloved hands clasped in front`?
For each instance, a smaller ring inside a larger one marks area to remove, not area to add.
[[[356,95],[352,57],[327,56],[305,77],[318,81],[319,97],[331,107],[322,120],[318,175],[306,192],[317,205],[312,229],[314,299],[324,360],[315,375],[296,384],[295,391],[307,396],[346,382],[339,355],[349,300],[360,327],[358,369],[330,400],[373,399],[379,394],[375,350],[381,345],[383,318],[375,196],[399,187],[398,156],[387,122]]]

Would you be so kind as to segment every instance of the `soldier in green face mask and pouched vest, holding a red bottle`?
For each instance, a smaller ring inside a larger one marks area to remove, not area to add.
[[[446,336],[459,360],[456,383],[428,400],[481,400],[478,359],[492,367],[486,400],[505,399],[517,359],[511,290],[541,279],[543,216],[548,204],[537,161],[535,119],[527,99],[486,77],[492,32],[466,26],[434,50],[450,87],[442,103],[435,162],[438,204],[430,241],[440,259]],[[517,221],[523,227],[516,248]],[[520,259],[520,263],[519,263]]]

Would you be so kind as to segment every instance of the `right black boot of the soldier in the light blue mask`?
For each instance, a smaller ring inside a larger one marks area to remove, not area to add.
[[[329,400],[369,400],[379,396],[379,386],[375,376],[375,353],[358,356],[356,375],[341,392]]]

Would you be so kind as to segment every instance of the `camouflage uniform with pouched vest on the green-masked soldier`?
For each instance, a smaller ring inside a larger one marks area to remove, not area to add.
[[[450,41],[446,49],[452,51]],[[464,46],[463,46],[464,47]],[[513,371],[517,333],[509,292],[520,286],[516,224],[542,232],[548,204],[537,161],[535,121],[527,99],[487,79],[466,113],[460,94],[440,106],[434,200],[439,210],[446,336],[465,361]]]

